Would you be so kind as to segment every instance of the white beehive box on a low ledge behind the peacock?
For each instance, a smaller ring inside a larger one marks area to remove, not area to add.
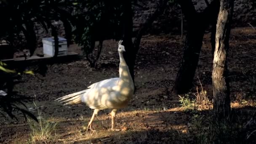
[[[59,53],[58,56],[66,56],[67,55],[67,40],[62,37],[59,38]],[[54,48],[54,39],[53,37],[45,37],[42,40],[43,42],[43,54],[48,56],[54,56],[55,48]]]

